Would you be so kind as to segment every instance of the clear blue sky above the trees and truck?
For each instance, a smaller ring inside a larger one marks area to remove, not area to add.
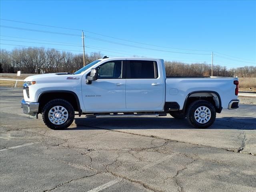
[[[256,66],[256,1],[0,0],[0,48]]]

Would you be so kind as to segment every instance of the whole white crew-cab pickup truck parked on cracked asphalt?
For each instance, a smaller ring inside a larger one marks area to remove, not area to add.
[[[74,74],[29,76],[23,85],[24,113],[51,129],[65,129],[77,115],[87,118],[166,116],[211,126],[216,112],[238,108],[238,78],[166,77],[164,60],[108,58]]]

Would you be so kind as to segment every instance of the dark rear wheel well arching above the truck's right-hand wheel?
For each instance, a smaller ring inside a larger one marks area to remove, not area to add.
[[[183,107],[184,112],[186,112],[186,109],[188,108],[188,106],[196,100],[206,100],[210,102],[215,107],[216,112],[218,113],[220,113],[222,110],[221,100],[218,94],[212,93],[212,92],[198,92],[198,93],[192,93],[187,96],[185,105]]]

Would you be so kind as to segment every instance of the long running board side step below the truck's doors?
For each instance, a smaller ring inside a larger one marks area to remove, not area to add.
[[[97,114],[97,115],[86,115],[86,118],[111,118],[111,117],[160,117],[166,116],[167,114]]]

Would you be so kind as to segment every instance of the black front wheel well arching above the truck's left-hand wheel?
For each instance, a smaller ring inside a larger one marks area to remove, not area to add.
[[[38,113],[42,112],[42,108],[44,108],[46,103],[48,103],[50,100],[54,100],[54,99],[64,99],[64,100],[70,102],[70,104],[73,106],[75,111],[80,112],[79,100],[75,93],[73,93],[73,92],[46,92],[46,93],[42,93],[38,98],[38,102],[39,102]]]

